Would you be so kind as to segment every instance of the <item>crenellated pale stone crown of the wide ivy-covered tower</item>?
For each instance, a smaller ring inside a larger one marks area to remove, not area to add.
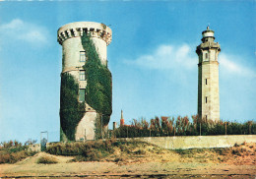
[[[63,41],[68,38],[79,37],[84,33],[91,34],[109,45],[112,40],[112,30],[104,24],[94,22],[76,22],[64,25],[58,30],[57,41],[62,45]]]

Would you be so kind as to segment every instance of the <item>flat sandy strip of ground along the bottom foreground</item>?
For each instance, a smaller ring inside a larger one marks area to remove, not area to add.
[[[255,165],[148,162],[118,165],[114,162],[57,164],[1,164],[1,177],[17,176],[122,176],[122,175],[238,175],[255,178]]]

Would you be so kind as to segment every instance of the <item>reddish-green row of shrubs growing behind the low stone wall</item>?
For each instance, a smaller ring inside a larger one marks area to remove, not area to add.
[[[120,126],[112,135],[116,138],[165,137],[165,136],[214,136],[214,135],[255,135],[256,122],[213,122],[200,120],[198,116],[156,117],[132,121],[131,125]]]

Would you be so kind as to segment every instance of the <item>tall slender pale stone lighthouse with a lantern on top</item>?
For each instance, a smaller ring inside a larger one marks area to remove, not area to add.
[[[202,43],[197,46],[198,54],[198,115],[200,119],[220,120],[219,62],[221,46],[215,42],[215,32],[207,27],[202,32]]]

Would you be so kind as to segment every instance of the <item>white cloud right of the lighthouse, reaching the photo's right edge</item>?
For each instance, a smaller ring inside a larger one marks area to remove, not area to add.
[[[256,77],[256,72],[245,67],[237,61],[240,61],[241,57],[235,57],[232,55],[220,53],[219,61],[220,66],[223,68],[224,73],[228,73],[229,75],[239,75],[239,76],[246,76],[246,77]],[[246,61],[244,61],[246,62]]]

